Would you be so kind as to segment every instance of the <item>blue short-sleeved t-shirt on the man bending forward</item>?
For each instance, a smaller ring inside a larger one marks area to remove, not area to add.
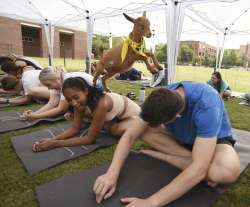
[[[196,137],[232,138],[231,124],[224,102],[206,83],[179,82],[167,88],[183,86],[186,109],[181,118],[165,127],[183,144],[193,144]]]

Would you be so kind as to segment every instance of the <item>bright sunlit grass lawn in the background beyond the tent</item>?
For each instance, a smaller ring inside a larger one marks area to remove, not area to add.
[[[34,58],[43,66],[48,66],[48,59]],[[55,58],[54,65],[64,66],[62,58]],[[146,77],[150,77],[150,72],[146,69],[144,63],[135,63],[134,67],[141,70]],[[85,68],[84,60],[66,59],[67,71],[79,71]],[[196,81],[206,82],[210,79],[213,68],[194,67],[194,66],[177,66],[176,80],[177,81]],[[222,78],[226,80],[233,91],[249,92],[250,91],[250,71],[234,69],[221,69]]]

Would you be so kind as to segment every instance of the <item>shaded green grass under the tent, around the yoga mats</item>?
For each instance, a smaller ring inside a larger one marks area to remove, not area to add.
[[[126,94],[134,91],[137,95],[139,86],[121,84],[118,81],[109,81],[108,85],[113,91]],[[149,89],[147,89],[147,94]],[[236,99],[226,102],[233,127],[250,131],[250,107],[238,104]],[[28,107],[22,107],[27,109]],[[13,107],[12,110],[20,109]],[[10,108],[8,108],[10,110]],[[62,122],[55,123],[61,124]],[[54,125],[54,124],[53,124]],[[29,176],[21,161],[13,151],[10,138],[26,134],[52,124],[40,124],[30,129],[16,130],[0,134],[0,206],[3,207],[31,207],[38,206],[35,187],[52,181],[64,175],[69,175],[80,170],[93,168],[99,164],[107,163],[112,159],[115,146],[100,149],[89,155],[67,161],[58,166],[47,169],[35,176]],[[142,141],[135,144],[134,149],[147,147]],[[250,168],[232,185],[213,207],[249,207],[250,206]],[[83,204],[84,206],[84,204]]]

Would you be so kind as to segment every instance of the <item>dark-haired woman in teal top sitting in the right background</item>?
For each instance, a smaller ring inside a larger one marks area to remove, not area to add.
[[[226,81],[222,80],[220,72],[214,72],[207,83],[214,87],[223,99],[228,100],[231,98],[230,86]]]

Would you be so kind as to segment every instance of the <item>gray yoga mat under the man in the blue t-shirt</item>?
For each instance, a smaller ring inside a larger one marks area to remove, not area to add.
[[[234,130],[238,140],[236,150],[240,154],[242,170],[250,161],[250,133]],[[97,206],[92,191],[97,176],[105,173],[108,164],[97,168],[64,176],[50,183],[38,186],[36,194],[40,207],[94,207]],[[121,171],[116,193],[99,207],[119,207],[120,199],[127,196],[146,198],[171,182],[180,171],[175,167],[140,153],[131,152]],[[230,186],[230,185],[229,185]],[[201,182],[168,207],[208,207],[218,199],[229,186],[208,187]]]

